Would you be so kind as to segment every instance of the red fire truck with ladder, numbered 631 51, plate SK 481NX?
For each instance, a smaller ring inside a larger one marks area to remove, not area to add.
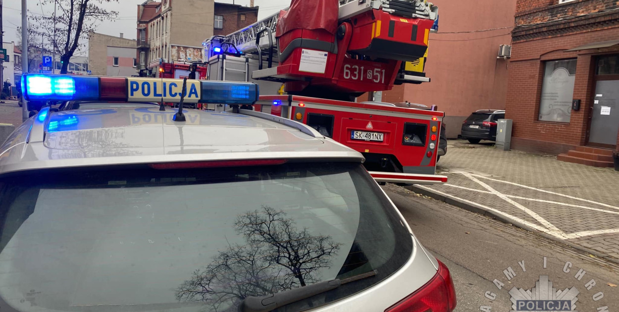
[[[437,21],[438,8],[426,0],[292,0],[279,14],[204,41],[207,79],[258,83],[254,110],[358,150],[370,171],[444,183],[435,175],[442,112],[353,102],[365,92],[429,82],[423,61]],[[277,95],[282,84],[287,95]]]

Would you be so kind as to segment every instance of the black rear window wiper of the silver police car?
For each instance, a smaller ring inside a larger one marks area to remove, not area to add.
[[[269,312],[290,303],[303,300],[319,293],[328,292],[346,283],[355,280],[366,279],[376,275],[376,270],[367,273],[348,277],[347,279],[333,279],[307,285],[305,287],[292,288],[284,292],[271,293],[262,297],[249,296],[241,301],[239,311],[241,312]]]

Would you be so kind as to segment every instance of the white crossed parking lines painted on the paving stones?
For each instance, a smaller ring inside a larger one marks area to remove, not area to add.
[[[576,232],[576,233],[565,233],[562,230],[560,230],[560,228],[555,227],[555,225],[553,225],[552,223],[548,222],[548,220],[544,219],[539,214],[535,213],[533,210],[528,209],[524,205],[519,204],[518,202],[513,201],[512,199],[522,199],[522,200],[526,200],[526,201],[543,202],[543,203],[555,204],[555,205],[559,205],[559,206],[566,206],[566,207],[574,207],[574,208],[580,208],[580,209],[594,210],[594,211],[598,211],[598,212],[605,212],[607,214],[619,214],[619,212],[617,212],[617,211],[604,210],[604,209],[599,209],[599,208],[594,208],[594,207],[587,207],[587,206],[579,206],[579,205],[574,205],[574,204],[567,204],[565,202],[547,201],[545,199],[537,199],[537,198],[529,198],[529,197],[523,197],[523,196],[515,196],[515,195],[503,194],[503,193],[497,191],[496,189],[492,188],[490,185],[484,183],[483,181],[480,181],[478,178],[482,178],[482,179],[486,179],[486,180],[490,180],[490,181],[495,181],[495,182],[511,184],[511,185],[514,185],[514,186],[519,186],[521,188],[526,188],[526,189],[532,189],[534,191],[539,191],[539,192],[542,192],[542,193],[553,194],[553,195],[556,195],[556,196],[562,196],[562,197],[566,197],[566,198],[569,198],[569,199],[575,199],[577,201],[589,202],[591,204],[595,204],[595,205],[599,205],[599,206],[604,206],[604,207],[608,207],[608,208],[612,208],[612,209],[619,210],[619,207],[608,205],[608,204],[604,204],[602,202],[591,201],[589,199],[569,196],[569,195],[561,194],[561,193],[555,193],[555,192],[552,192],[552,191],[546,191],[545,189],[533,188],[531,186],[517,184],[517,183],[513,183],[513,182],[509,182],[509,181],[497,180],[497,179],[490,178],[488,176],[478,175],[478,174],[475,174],[475,173],[470,173],[470,172],[465,172],[465,171],[451,171],[449,173],[456,173],[456,174],[459,174],[459,175],[463,175],[466,178],[468,178],[469,180],[474,181],[475,183],[479,184],[480,186],[482,186],[482,188],[484,188],[486,190],[466,188],[464,186],[459,186],[459,185],[454,185],[454,184],[449,184],[449,183],[443,184],[444,186],[449,186],[451,188],[465,189],[467,191],[473,191],[473,192],[476,192],[476,193],[491,194],[491,195],[495,195],[497,197],[500,197],[504,201],[509,202],[509,204],[512,204],[516,208],[522,210],[526,214],[528,214],[531,217],[533,217],[535,220],[537,220],[537,222],[542,224],[542,226],[537,225],[537,224],[532,223],[532,222],[529,222],[529,221],[526,221],[526,220],[523,220],[523,219],[521,219],[519,217],[516,217],[514,215],[507,214],[505,212],[502,212],[501,210],[494,209],[494,208],[491,208],[491,207],[488,207],[488,206],[484,206],[482,204],[478,204],[477,202],[469,201],[467,199],[463,199],[461,197],[456,197],[456,196],[453,196],[451,194],[443,193],[441,191],[437,191],[436,189],[430,188],[428,186],[418,185],[417,187],[422,188],[422,189],[426,189],[428,191],[432,191],[434,193],[441,194],[441,195],[446,196],[446,197],[451,197],[451,198],[457,199],[459,201],[467,202],[468,204],[474,204],[475,206],[482,207],[483,209],[487,209],[487,210],[496,212],[497,214],[503,215],[504,217],[508,217],[509,219],[514,220],[515,222],[522,223],[522,224],[527,225],[527,226],[529,226],[531,228],[534,228],[535,230],[539,230],[540,232],[547,233],[547,234],[553,235],[553,236],[555,236],[557,238],[562,238],[564,240],[571,240],[571,239],[574,239],[574,238],[581,238],[581,237],[592,236],[592,235],[619,233],[619,228],[610,228],[610,229],[605,229],[605,230],[582,231],[582,232]]]

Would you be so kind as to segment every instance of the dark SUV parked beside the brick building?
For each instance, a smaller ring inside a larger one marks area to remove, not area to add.
[[[462,123],[462,139],[473,144],[482,140],[496,141],[496,121],[504,118],[504,110],[475,111]]]

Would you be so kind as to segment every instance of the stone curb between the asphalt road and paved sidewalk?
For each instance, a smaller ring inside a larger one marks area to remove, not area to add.
[[[593,249],[589,249],[589,248],[582,247],[580,245],[571,243],[569,241],[563,240],[562,238],[557,238],[555,236],[548,235],[547,233],[540,232],[538,230],[535,230],[532,227],[529,227],[528,225],[524,225],[524,224],[522,224],[520,222],[516,222],[514,220],[508,219],[507,217],[504,217],[503,215],[497,214],[494,211],[485,209],[485,208],[480,207],[478,205],[471,204],[469,202],[464,202],[464,201],[461,201],[460,199],[456,199],[456,198],[451,197],[451,196],[444,196],[443,194],[435,193],[435,192],[430,191],[428,189],[422,189],[422,188],[419,188],[418,186],[415,186],[415,185],[409,186],[409,187],[407,187],[407,189],[410,189],[410,191],[413,191],[413,192],[415,192],[417,194],[422,194],[424,196],[431,197],[433,199],[436,199],[437,201],[445,202],[447,204],[450,204],[451,206],[460,207],[460,208],[462,208],[464,210],[469,210],[470,212],[475,212],[476,214],[485,215],[486,217],[490,217],[492,219],[499,220],[500,222],[514,225],[514,227],[522,228],[522,230],[526,230],[527,232],[531,232],[531,233],[535,233],[537,235],[543,236],[544,238],[548,238],[548,240],[555,241],[556,243],[567,245],[567,246],[569,246],[571,248],[574,248],[574,249],[577,249],[579,251],[583,251],[585,253],[592,254],[592,255],[596,256],[597,258],[604,259],[604,260],[606,260],[608,262],[613,262],[615,264],[619,264],[619,259],[607,256],[606,254],[600,253],[599,251],[595,251]]]

